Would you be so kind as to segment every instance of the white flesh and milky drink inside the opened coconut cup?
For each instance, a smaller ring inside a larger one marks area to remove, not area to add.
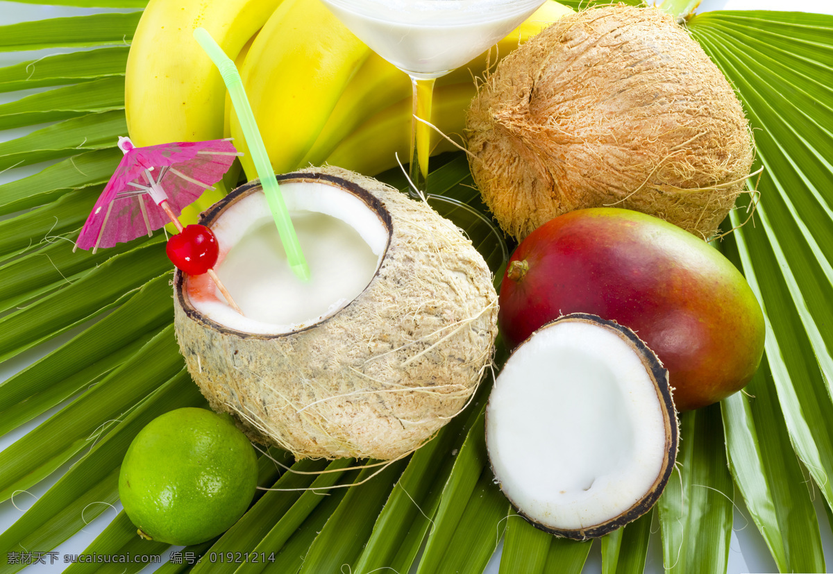
[[[207,276],[189,277],[188,297],[204,317],[241,332],[297,331],[337,313],[377,272],[388,232],[366,203],[322,182],[286,182],[281,192],[311,280],[288,265],[265,195],[250,194],[212,224],[221,247],[215,271],[243,314]]]

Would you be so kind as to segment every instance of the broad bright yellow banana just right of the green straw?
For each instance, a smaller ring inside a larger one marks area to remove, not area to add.
[[[241,76],[272,167],[298,167],[352,75],[370,54],[321,0],[284,0],[243,63]],[[232,137],[256,177],[232,110]]]

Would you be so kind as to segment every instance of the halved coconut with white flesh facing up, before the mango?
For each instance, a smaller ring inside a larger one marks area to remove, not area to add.
[[[486,407],[501,489],[536,527],[583,540],[645,514],[674,467],[666,369],[627,327],[547,323],[512,353]]]

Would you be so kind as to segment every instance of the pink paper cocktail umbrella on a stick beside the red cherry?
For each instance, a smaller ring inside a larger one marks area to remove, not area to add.
[[[168,221],[182,231],[177,219],[182,208],[213,189],[234,158],[242,155],[227,139],[135,147],[129,137],[119,137],[118,147],[124,157],[92,207],[76,248],[92,248],[94,253],[98,247],[150,237]],[[213,269],[208,274],[240,312]]]

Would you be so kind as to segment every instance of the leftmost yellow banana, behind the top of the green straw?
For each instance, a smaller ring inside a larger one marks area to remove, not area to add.
[[[127,57],[127,130],[137,146],[222,137],[226,87],[194,40],[204,27],[234,59],[281,0],[151,0]]]

